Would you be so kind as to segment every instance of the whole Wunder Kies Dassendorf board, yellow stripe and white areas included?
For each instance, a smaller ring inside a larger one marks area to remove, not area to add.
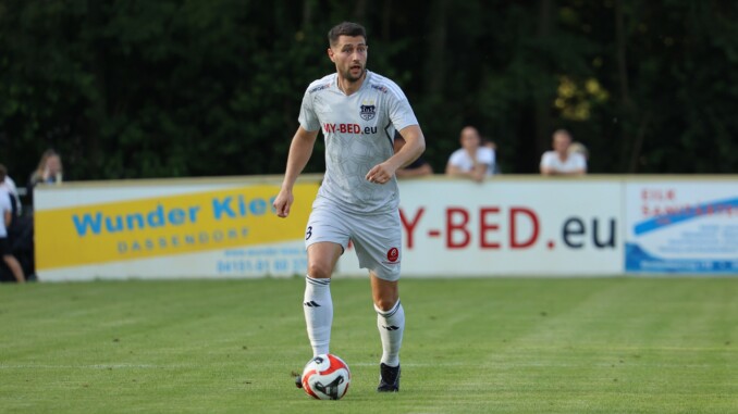
[[[292,276],[307,269],[302,226],[318,184],[295,187],[293,219],[272,213],[279,185],[247,180],[64,185],[36,193],[42,280]]]

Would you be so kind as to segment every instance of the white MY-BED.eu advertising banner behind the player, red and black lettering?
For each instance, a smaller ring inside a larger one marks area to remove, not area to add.
[[[618,180],[403,180],[404,276],[623,272]],[[365,275],[353,250],[344,275]]]

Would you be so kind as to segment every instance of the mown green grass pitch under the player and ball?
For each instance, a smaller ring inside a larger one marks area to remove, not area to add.
[[[0,286],[0,412],[738,412],[738,278],[401,286],[402,390],[378,394],[369,283],[333,281],[341,401],[293,384],[302,278]]]

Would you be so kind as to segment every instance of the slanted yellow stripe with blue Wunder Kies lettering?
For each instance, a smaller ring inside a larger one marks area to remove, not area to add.
[[[272,211],[280,189],[273,185],[37,211],[36,267],[44,271],[303,240],[318,187],[317,183],[295,186],[288,219]]]

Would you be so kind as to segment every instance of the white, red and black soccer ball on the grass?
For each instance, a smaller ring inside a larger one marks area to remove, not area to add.
[[[310,360],[303,369],[303,389],[318,400],[339,400],[352,381],[348,365],[342,359],[324,353]]]

